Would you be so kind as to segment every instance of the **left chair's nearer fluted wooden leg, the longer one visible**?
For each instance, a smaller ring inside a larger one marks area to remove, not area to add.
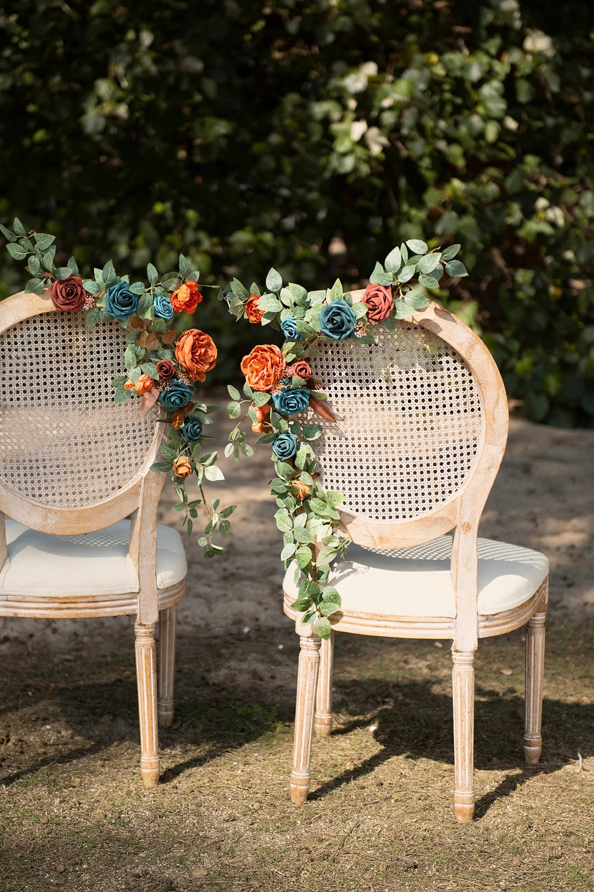
[[[141,773],[145,787],[159,783],[159,736],[157,731],[157,655],[155,626],[134,625],[136,684],[140,716]]]

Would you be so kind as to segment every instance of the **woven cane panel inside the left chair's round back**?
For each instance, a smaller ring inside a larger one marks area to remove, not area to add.
[[[142,466],[157,410],[117,406],[118,322],[87,328],[80,313],[42,313],[0,335],[0,479],[28,499],[84,507],[118,491]]]

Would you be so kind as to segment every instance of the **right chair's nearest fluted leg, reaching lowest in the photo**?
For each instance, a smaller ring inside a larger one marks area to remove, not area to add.
[[[452,650],[454,714],[454,811],[460,824],[475,814],[473,772],[475,761],[475,655]]]

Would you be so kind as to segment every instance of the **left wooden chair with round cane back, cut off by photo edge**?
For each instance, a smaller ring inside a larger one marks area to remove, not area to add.
[[[141,772],[154,787],[187,566],[179,533],[157,526],[158,409],[113,402],[124,337],[118,322],[87,328],[55,311],[47,292],[0,303],[0,627],[6,616],[135,615]]]

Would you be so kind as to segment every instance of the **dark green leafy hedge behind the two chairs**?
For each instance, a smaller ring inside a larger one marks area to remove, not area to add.
[[[0,220],[83,265],[310,288],[460,242],[435,296],[529,417],[591,425],[593,45],[574,0],[3,4]],[[228,380],[261,329],[203,308]]]

